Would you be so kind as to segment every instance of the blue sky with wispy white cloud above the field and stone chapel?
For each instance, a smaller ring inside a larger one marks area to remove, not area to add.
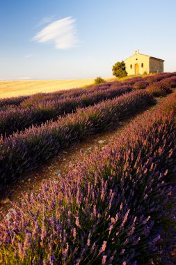
[[[134,50],[176,71],[175,0],[0,0],[0,80],[112,76]]]

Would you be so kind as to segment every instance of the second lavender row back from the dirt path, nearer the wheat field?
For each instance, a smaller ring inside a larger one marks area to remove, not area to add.
[[[112,99],[129,93],[132,90],[131,86],[122,86],[117,89],[106,89],[106,91],[95,91],[82,95],[77,98],[65,98],[60,100],[45,101],[38,104],[38,107],[28,109],[20,109],[13,107],[8,111],[0,112],[0,135],[3,137],[11,135],[17,130],[21,131],[30,126],[39,126],[48,120],[58,119],[58,116],[63,116],[68,113],[76,112],[78,107],[88,107],[95,105],[103,100]]]

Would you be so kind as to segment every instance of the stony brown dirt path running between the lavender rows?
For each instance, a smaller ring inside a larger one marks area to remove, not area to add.
[[[157,99],[157,105],[150,107],[145,110],[145,112],[154,112],[154,110],[163,102],[164,98]],[[93,135],[85,139],[83,142],[74,144],[64,151],[61,151],[58,156],[49,159],[45,162],[45,165],[40,165],[38,169],[29,174],[23,175],[23,180],[18,181],[13,186],[7,188],[6,194],[4,194],[4,199],[1,200],[0,204],[0,214],[2,212],[7,212],[9,209],[13,210],[13,205],[11,202],[22,201],[22,194],[26,192],[33,192],[38,194],[40,192],[42,181],[45,179],[57,180],[60,174],[67,173],[70,169],[70,163],[72,165],[77,165],[78,161],[83,161],[85,156],[89,156],[90,153],[96,148],[101,151],[104,146],[109,146],[113,144],[114,140],[125,130],[125,128],[131,123],[138,119],[137,114],[134,119],[129,119],[121,123],[121,126],[111,132],[104,132],[99,135]]]

